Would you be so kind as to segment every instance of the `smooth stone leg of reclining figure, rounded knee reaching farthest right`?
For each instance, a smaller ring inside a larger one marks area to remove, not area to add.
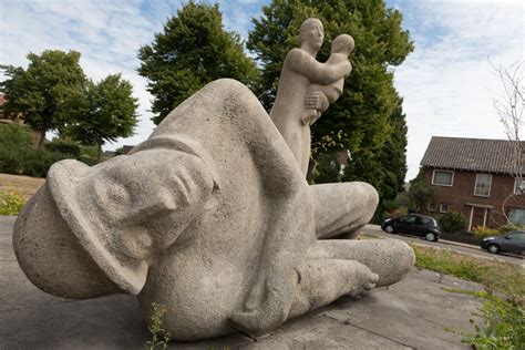
[[[400,281],[415,262],[412,248],[399,239],[319,240],[309,258],[359,261],[379,275],[378,287]]]

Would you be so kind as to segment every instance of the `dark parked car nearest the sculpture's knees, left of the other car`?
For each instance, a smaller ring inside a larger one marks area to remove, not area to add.
[[[420,214],[409,214],[393,219],[385,219],[381,228],[389,234],[415,235],[433,241],[437,241],[441,235],[437,222],[431,216]]]

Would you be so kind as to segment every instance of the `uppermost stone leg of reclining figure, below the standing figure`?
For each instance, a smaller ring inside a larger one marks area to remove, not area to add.
[[[375,188],[367,183],[310,186],[316,206],[316,236],[354,238],[373,215],[379,203]],[[343,235],[343,237],[341,237]]]

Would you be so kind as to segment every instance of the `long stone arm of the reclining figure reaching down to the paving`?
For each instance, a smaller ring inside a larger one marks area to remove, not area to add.
[[[231,316],[236,328],[250,334],[276,328],[288,318],[308,247],[315,240],[309,188],[299,174],[290,171],[292,159],[279,150],[267,148],[266,154],[256,156],[265,191],[274,198],[274,219],[266,227],[259,274],[245,309]]]

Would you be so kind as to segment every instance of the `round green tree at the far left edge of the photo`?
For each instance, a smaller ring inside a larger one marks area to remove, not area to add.
[[[27,58],[27,70],[0,65],[8,76],[0,82],[0,91],[8,100],[7,115],[22,115],[25,124],[41,132],[41,147],[45,132],[61,128],[80,104],[85,76],[75,51],[47,50],[40,55],[30,52]]]

